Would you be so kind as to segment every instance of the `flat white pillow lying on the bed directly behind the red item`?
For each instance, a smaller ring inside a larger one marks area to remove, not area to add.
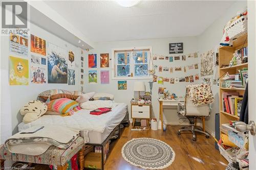
[[[102,107],[112,108],[114,106],[113,101],[88,101],[80,104],[81,108],[86,110],[95,110]]]

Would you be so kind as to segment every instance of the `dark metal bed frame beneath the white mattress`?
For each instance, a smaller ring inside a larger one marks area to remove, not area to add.
[[[126,119],[127,117],[127,119]],[[110,140],[110,138],[113,136],[113,134],[116,132],[116,130],[118,129],[118,139],[120,138],[120,125],[123,124],[123,122],[126,122],[126,120],[129,120],[129,112],[126,112],[125,117],[123,118],[122,122],[117,125],[113,131],[109,134],[109,136],[101,143],[86,143],[86,145],[92,145],[94,147],[101,147],[101,170],[104,170],[104,145],[106,144],[106,142],[108,142]],[[106,159],[108,158],[108,155],[106,155]],[[84,168],[84,169],[92,169],[92,168]]]

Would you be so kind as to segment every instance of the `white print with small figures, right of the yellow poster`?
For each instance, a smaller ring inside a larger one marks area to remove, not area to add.
[[[47,82],[46,66],[31,63],[31,83],[44,84],[46,82]]]

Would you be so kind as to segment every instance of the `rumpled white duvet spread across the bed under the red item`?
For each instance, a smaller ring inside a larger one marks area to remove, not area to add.
[[[127,108],[127,105],[124,103],[115,103],[115,106],[116,107],[113,107],[111,112],[101,115],[91,115],[91,110],[84,109],[75,112],[71,116],[42,115],[28,125],[20,123],[18,125],[18,129],[19,131],[22,131],[29,127],[38,125],[59,125],[79,131],[97,131],[103,133],[105,127],[108,126],[110,121],[123,119],[125,116],[125,113],[123,113],[122,110],[123,108]]]

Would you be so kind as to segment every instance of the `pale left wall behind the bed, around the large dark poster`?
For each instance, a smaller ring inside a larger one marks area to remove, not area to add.
[[[80,56],[81,49],[62,40],[55,35],[42,30],[33,23],[30,24],[30,33],[41,37],[46,42],[62,47],[64,50],[72,50],[75,54],[75,85],[68,84],[31,84],[28,86],[9,86],[9,56],[19,57],[9,53],[9,36],[1,35],[1,142],[6,137],[18,131],[17,125],[22,122],[23,116],[19,114],[19,109],[24,106],[28,101],[36,99],[37,95],[49,89],[67,89],[67,90],[80,90]],[[29,34],[30,34],[29,33]],[[30,44],[30,36],[29,36]],[[28,57],[21,57],[29,60],[29,67],[31,66],[30,60],[30,45]],[[33,53],[32,53],[33,54]],[[30,74],[30,72],[29,72]],[[29,75],[30,78],[30,75]],[[30,80],[30,79],[29,79]]]

